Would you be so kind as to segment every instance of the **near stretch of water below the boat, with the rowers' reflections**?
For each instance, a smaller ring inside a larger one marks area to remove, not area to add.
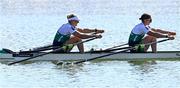
[[[0,64],[0,87],[178,87],[179,65],[175,61],[157,61],[157,64],[98,61],[63,67],[49,62]]]

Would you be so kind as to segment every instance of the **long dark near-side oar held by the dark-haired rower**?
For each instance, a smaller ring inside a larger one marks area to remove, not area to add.
[[[164,42],[164,41],[167,41],[167,40],[170,40],[170,39],[164,39],[164,40],[160,40],[160,41],[156,41],[156,42],[146,43],[146,44],[143,44],[143,45],[151,45],[151,44],[154,44],[154,43],[160,43],[160,42]],[[97,57],[93,57],[93,58],[86,59],[86,60],[77,61],[77,62],[74,62],[73,64],[79,64],[79,63],[83,63],[83,62],[86,62],[86,61],[92,61],[92,60],[95,60],[95,59],[98,59],[98,58],[103,58],[103,57],[119,54],[119,53],[126,52],[126,51],[132,50],[132,49],[135,49],[135,47],[129,47],[129,48],[127,48],[125,50],[122,50],[122,51],[118,51],[118,52],[114,52],[114,53],[109,53],[109,54],[106,54],[106,55],[97,56]]]

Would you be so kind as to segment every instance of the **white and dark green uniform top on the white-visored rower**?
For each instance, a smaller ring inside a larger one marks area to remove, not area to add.
[[[63,46],[75,31],[76,27],[70,23],[63,24],[54,37],[53,46]]]

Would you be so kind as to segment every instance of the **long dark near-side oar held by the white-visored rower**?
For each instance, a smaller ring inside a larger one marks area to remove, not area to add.
[[[81,43],[85,43],[85,42],[88,42],[88,41],[91,41],[91,40],[94,40],[94,39],[97,39],[97,38],[95,37],[95,38],[91,38],[91,39],[88,39],[88,40],[85,40],[85,41],[74,43],[73,46],[81,44]],[[36,56],[33,56],[33,57],[29,57],[29,58],[26,58],[26,59],[23,59],[23,60],[19,60],[19,61],[15,61],[15,62],[9,63],[8,65],[13,65],[13,64],[16,64],[16,63],[24,62],[24,61],[27,61],[27,60],[30,60],[30,59],[34,59],[36,57],[40,57],[40,56],[44,56],[44,55],[47,55],[47,54],[50,54],[50,53],[57,52],[57,51],[62,50],[62,49],[63,48],[61,47],[61,48],[55,49],[55,50],[50,51],[50,52],[46,52],[46,53],[39,54],[39,55],[36,55]]]

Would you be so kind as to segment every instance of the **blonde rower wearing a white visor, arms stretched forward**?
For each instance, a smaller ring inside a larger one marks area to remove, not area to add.
[[[88,39],[92,37],[97,37],[101,38],[102,36],[99,33],[103,33],[104,30],[98,30],[98,29],[81,29],[77,28],[77,24],[79,23],[79,18],[74,15],[70,14],[67,15],[67,20],[68,23],[63,24],[57,31],[54,41],[53,41],[53,46],[60,46],[62,47],[64,44],[73,44],[82,41],[82,39]],[[94,34],[90,34],[94,33]],[[81,53],[84,52],[84,45],[83,44],[78,44],[77,45],[79,51]],[[69,52],[72,49],[66,49],[66,51],[63,52]],[[62,51],[60,51],[62,52]]]

